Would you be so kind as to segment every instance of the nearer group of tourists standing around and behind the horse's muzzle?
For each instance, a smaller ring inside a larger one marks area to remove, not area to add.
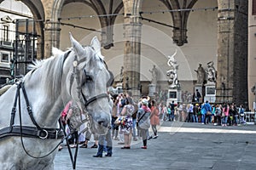
[[[92,134],[89,131],[86,133],[79,132],[73,133],[68,139],[68,144],[71,148],[77,147],[76,139],[79,140],[80,148],[97,148],[97,153],[94,157],[102,157],[103,151],[107,154],[105,156],[112,156],[112,140],[118,140],[118,144],[122,144],[121,149],[131,149],[131,140],[142,140],[142,149],[148,148],[147,141],[149,139],[157,139],[157,126],[160,125],[160,107],[159,104],[148,96],[143,96],[142,99],[135,102],[131,93],[114,94],[110,95],[113,101],[111,111],[112,122],[106,135]],[[74,122],[71,120],[73,111],[78,111],[78,106],[73,105],[72,102],[68,103],[64,111],[61,113],[61,120],[66,127],[67,133],[72,132]],[[149,133],[149,128],[152,128]],[[80,127],[83,130],[83,127]],[[91,135],[94,136],[94,144],[88,146]],[[62,149],[60,146],[59,150]]]

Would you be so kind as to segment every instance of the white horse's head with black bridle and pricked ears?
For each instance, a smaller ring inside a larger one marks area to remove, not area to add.
[[[68,58],[73,59],[73,66],[67,73],[68,94],[82,112],[88,113],[92,133],[106,133],[111,120],[107,88],[113,82],[113,74],[104,62],[97,37],[86,47],[82,47],[71,34],[70,40],[73,52]]]

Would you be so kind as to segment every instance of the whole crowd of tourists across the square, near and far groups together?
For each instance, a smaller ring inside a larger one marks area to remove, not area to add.
[[[158,103],[148,96],[143,96],[139,101],[135,102],[131,93],[113,94],[112,99],[112,122],[108,133],[104,135],[92,134],[90,131],[86,133],[73,133],[68,139],[68,144],[71,148],[77,147],[76,139],[79,140],[80,148],[97,148],[94,157],[102,157],[103,151],[105,156],[112,156],[112,140],[118,140],[118,144],[124,150],[131,149],[131,141],[142,141],[142,149],[147,149],[147,141],[149,139],[158,138],[157,126],[160,121],[168,122],[200,122],[201,124],[212,124],[216,126],[238,126],[245,124],[243,105],[239,107],[236,104],[213,104],[208,101],[199,104],[175,104],[172,101],[170,104]],[[68,103],[64,111],[61,113],[61,120],[66,127],[67,133],[72,132],[75,127],[74,122],[70,120],[73,112],[78,112],[79,107]],[[149,133],[149,128],[152,128],[152,134]],[[80,131],[84,129],[80,127]],[[79,136],[78,136],[79,135]],[[88,142],[93,135],[94,144],[88,146]],[[62,149],[60,146],[59,150]]]

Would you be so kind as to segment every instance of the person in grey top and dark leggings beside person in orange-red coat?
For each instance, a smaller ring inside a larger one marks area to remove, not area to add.
[[[149,117],[151,115],[151,110],[148,107],[148,99],[142,100],[142,107],[137,111],[137,122],[138,127],[141,130],[141,134],[143,137],[143,146],[142,149],[147,149],[147,131],[150,127]]]

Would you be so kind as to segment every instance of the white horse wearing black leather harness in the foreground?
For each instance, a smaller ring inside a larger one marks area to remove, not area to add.
[[[58,120],[70,100],[88,112],[93,133],[107,132],[107,88],[113,75],[100,42],[94,37],[90,46],[82,47],[70,39],[73,48],[54,50],[54,56],[38,62],[0,97],[1,169],[54,169],[54,149],[63,138]]]

